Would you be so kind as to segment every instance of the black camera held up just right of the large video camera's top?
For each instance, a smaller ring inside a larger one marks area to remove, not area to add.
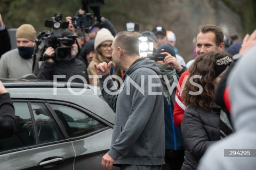
[[[92,15],[86,13],[85,15],[76,15],[73,17],[73,25],[75,28],[89,28],[92,25]]]

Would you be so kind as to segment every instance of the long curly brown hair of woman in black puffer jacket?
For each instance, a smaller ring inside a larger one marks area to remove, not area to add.
[[[215,90],[214,80],[216,78],[214,66],[217,60],[226,56],[231,58],[231,55],[222,52],[210,52],[196,57],[194,63],[189,67],[188,81],[181,95],[186,106],[194,108],[199,106],[207,111],[211,109]],[[202,77],[194,78],[195,75]],[[199,92],[199,87],[195,86],[195,83],[203,87],[201,93]],[[192,94],[197,92],[197,95],[191,95],[191,92]]]

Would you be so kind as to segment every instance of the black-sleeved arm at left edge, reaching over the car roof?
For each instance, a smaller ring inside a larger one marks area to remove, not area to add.
[[[14,107],[10,94],[0,81],[0,138],[10,138],[15,131]]]

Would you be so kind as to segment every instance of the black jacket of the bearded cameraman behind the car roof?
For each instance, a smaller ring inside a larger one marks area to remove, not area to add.
[[[87,67],[84,62],[78,58],[72,61],[58,61],[57,63],[43,62],[37,74],[37,78],[53,80],[53,75],[66,75],[66,79],[57,79],[58,81],[68,81],[73,75],[81,75],[89,82]],[[83,80],[74,79],[74,82],[83,83]]]

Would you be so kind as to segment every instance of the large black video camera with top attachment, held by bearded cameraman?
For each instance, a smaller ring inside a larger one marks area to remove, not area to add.
[[[39,32],[38,38],[36,40],[36,45],[41,48],[42,60],[48,60],[50,56],[45,55],[44,52],[46,48],[54,48],[55,54],[52,57],[55,61],[70,61],[71,56],[71,46],[75,43],[77,36],[68,35],[65,38],[61,37],[61,32],[59,28],[68,28],[68,22],[61,22],[62,14],[57,13],[52,17],[51,21],[45,21],[45,27],[53,28],[53,31],[43,31]],[[67,47],[62,47],[61,44]]]

